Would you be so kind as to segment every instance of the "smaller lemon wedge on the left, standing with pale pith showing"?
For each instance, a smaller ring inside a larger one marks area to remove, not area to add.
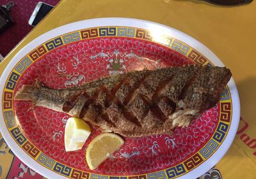
[[[70,152],[81,149],[90,134],[90,126],[84,120],[68,118],[64,136],[65,150]]]

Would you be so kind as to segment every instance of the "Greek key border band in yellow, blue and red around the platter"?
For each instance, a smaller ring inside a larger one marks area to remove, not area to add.
[[[133,27],[95,27],[91,29],[83,29],[81,31],[74,31],[62,36],[58,36],[49,41],[46,41],[44,44],[38,46],[28,55],[26,55],[22,60],[20,60],[15,68],[13,68],[9,77],[6,80],[3,91],[2,104],[4,121],[8,131],[13,137],[13,140],[36,162],[42,166],[51,169],[52,171],[59,173],[60,175],[67,176],[69,178],[92,178],[92,179],[155,179],[155,178],[176,178],[182,176],[188,171],[193,170],[204,161],[209,159],[212,154],[220,147],[221,143],[227,136],[227,132],[230,127],[230,122],[232,119],[232,101],[230,96],[230,91],[226,87],[225,91],[221,94],[220,100],[220,120],[216,131],[212,135],[211,140],[209,140],[204,147],[196,154],[191,156],[186,161],[173,166],[172,168],[164,169],[154,173],[147,173],[145,175],[135,175],[135,176],[108,176],[108,175],[99,175],[93,174],[86,171],[82,171],[76,168],[71,168],[65,164],[61,164],[58,161],[55,161],[51,157],[45,155],[40,151],[24,134],[20,131],[17,122],[13,120],[13,90],[16,87],[17,82],[19,82],[19,77],[26,71],[31,64],[36,60],[40,59],[43,55],[47,54],[54,48],[61,47],[68,43],[74,41],[80,41],[88,38],[100,38],[100,37],[125,37],[125,38],[138,38],[144,39],[147,41],[153,41],[155,43],[169,47],[176,52],[179,52],[182,55],[185,55],[191,61],[212,66],[212,63],[208,61],[204,55],[197,52],[195,49],[189,47],[186,43],[174,39],[170,36],[163,36],[163,41],[157,41],[154,39],[154,36],[150,34],[150,31],[145,29],[138,29]]]

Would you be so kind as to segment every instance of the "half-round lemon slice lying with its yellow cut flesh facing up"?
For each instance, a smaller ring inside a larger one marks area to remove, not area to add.
[[[104,132],[96,136],[86,150],[86,162],[90,169],[97,168],[124,144],[120,136]]]

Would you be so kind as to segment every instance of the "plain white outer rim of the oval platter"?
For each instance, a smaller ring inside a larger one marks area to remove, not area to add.
[[[172,27],[168,27],[163,24],[158,24],[156,22],[150,22],[147,20],[140,20],[136,18],[119,18],[119,17],[112,17],[112,18],[92,18],[88,20],[81,20],[78,22],[73,22],[67,25],[62,25],[60,27],[57,27],[56,29],[52,29],[51,31],[45,32],[41,36],[38,36],[38,38],[34,39],[28,45],[26,45],[22,50],[20,50],[8,63],[6,66],[6,69],[4,69],[3,74],[0,78],[0,84],[4,84],[6,82],[6,78],[8,78],[8,75],[10,71],[14,68],[14,66],[17,64],[17,62],[20,61],[22,57],[27,55],[31,50],[38,47],[38,45],[41,45],[45,41],[52,39],[56,36],[60,36],[62,34],[65,34],[67,32],[72,31],[78,31],[80,29],[86,29],[90,27],[102,27],[102,26],[127,26],[127,27],[137,27],[141,29],[148,29],[152,30],[155,29],[157,31],[164,31],[166,34],[170,34],[170,36],[173,36],[175,39],[179,39],[180,41],[188,44],[190,47],[195,48],[200,52],[201,54],[204,54],[204,56],[209,59],[214,65],[216,66],[224,66],[224,64],[220,61],[220,59],[211,51],[209,48],[205,47],[200,41],[197,41],[196,39],[192,38],[188,34],[185,34],[184,32],[181,32],[177,29],[174,29]],[[232,97],[232,122],[230,124],[230,129],[228,131],[228,134],[223,141],[223,143],[220,145],[218,150],[212,154],[209,159],[204,161],[202,164],[197,166],[195,169],[192,169],[188,173],[182,175],[179,177],[179,179],[184,178],[196,178],[201,175],[204,175],[209,169],[212,168],[215,164],[217,164],[220,159],[226,154],[228,151],[228,148],[232,145],[232,142],[236,136],[236,131],[239,124],[239,118],[240,118],[240,102],[239,102],[239,94],[237,92],[236,84],[233,80],[233,78],[230,79],[230,82],[228,82],[228,88],[230,90],[230,95]],[[0,86],[0,95],[1,99],[3,100],[3,90],[4,85]],[[2,103],[0,103],[0,109],[3,109]],[[0,118],[3,119],[3,112],[0,113]],[[13,153],[19,157],[19,159],[24,162],[26,165],[29,166],[29,168],[34,169],[37,173],[39,173],[42,176],[45,176],[47,178],[67,178],[65,176],[62,176],[58,173],[55,173],[54,171],[51,171],[50,169],[45,168],[38,162],[36,162],[33,158],[31,158],[22,148],[17,145],[17,143],[13,140],[12,136],[8,132],[8,129],[6,128],[6,125],[4,123],[4,120],[0,120],[0,131],[3,135],[4,140],[6,141],[7,145],[11,148]]]

